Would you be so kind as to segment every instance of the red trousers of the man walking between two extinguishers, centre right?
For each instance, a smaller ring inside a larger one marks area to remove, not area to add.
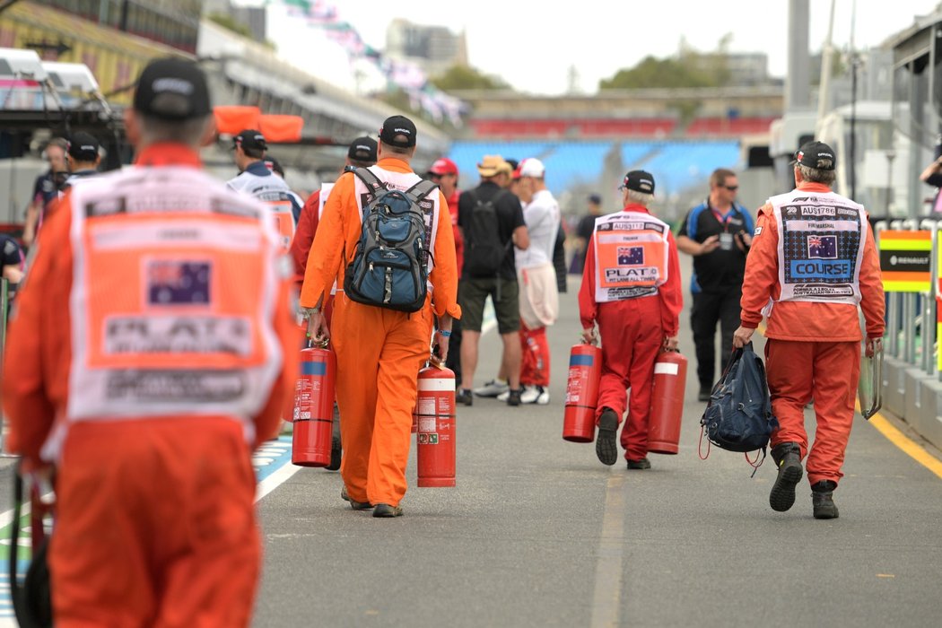
[[[647,455],[654,363],[664,336],[660,301],[648,297],[600,303],[597,320],[602,337],[602,378],[596,420],[603,408],[610,408],[621,422],[627,405],[621,436],[625,459],[642,459]],[[630,399],[626,389],[631,389]]]

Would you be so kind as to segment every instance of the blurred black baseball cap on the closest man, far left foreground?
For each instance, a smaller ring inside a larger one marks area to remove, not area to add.
[[[151,61],[138,77],[134,108],[163,120],[203,118],[212,111],[206,76],[192,61],[162,58]]]

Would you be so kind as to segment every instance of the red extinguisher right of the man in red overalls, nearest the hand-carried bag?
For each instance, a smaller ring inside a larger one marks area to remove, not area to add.
[[[648,451],[676,454],[680,420],[684,415],[687,358],[677,351],[663,351],[654,363],[654,390],[648,419]]]

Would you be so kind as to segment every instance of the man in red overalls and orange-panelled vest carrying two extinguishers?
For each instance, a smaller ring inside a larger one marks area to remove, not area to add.
[[[662,349],[677,346],[683,306],[680,265],[670,227],[651,216],[654,176],[643,170],[625,175],[625,209],[595,220],[579,289],[582,338],[602,337],[602,379],[598,394],[595,454],[604,464],[618,459],[615,435],[622,429],[628,469],[650,469],[648,415],[654,363]],[[625,389],[631,389],[626,403]]]

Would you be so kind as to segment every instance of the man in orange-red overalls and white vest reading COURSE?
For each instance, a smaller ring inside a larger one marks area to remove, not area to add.
[[[796,188],[759,210],[742,284],[741,326],[733,346],[749,342],[765,315],[771,435],[778,476],[769,504],[795,503],[807,455],[815,519],[834,519],[834,490],[851,436],[860,375],[859,305],[867,320],[867,355],[884,333],[880,258],[862,205],[835,194],[835,153],[807,142],[796,153]],[[814,399],[818,427],[808,452],[804,406]]]

